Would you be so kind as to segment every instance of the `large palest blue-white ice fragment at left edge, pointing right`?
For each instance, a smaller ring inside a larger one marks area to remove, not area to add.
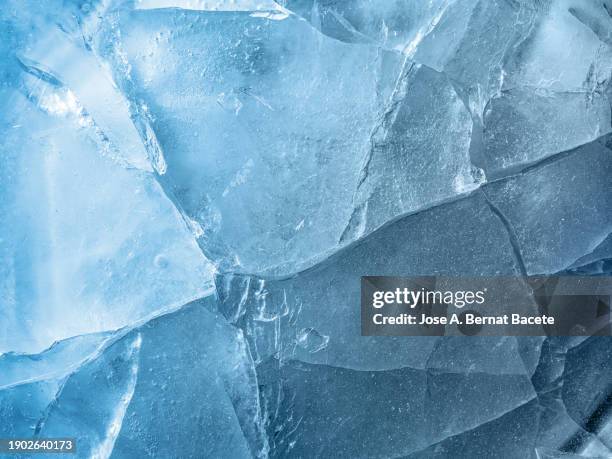
[[[15,91],[2,101],[0,352],[116,329],[210,289],[212,266],[151,174],[107,155],[78,113]]]

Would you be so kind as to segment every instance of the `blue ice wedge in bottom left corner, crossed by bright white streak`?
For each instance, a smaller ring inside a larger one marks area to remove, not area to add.
[[[244,337],[214,308],[203,299],[118,333],[59,384],[41,374],[0,390],[0,434],[73,437],[88,457],[266,457]],[[41,397],[47,386],[57,393]]]

